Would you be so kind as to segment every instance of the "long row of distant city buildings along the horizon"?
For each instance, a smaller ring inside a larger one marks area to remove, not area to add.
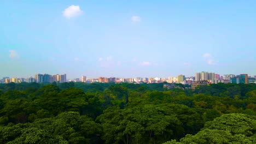
[[[219,74],[215,74],[212,72],[202,71],[201,73],[196,73],[195,76],[185,77],[185,75],[178,75],[177,77],[167,77],[167,78],[160,78],[160,77],[136,77],[136,78],[119,78],[119,77],[97,77],[97,78],[87,78],[86,76],[82,76],[80,79],[73,79],[68,80],[73,82],[86,82],[86,83],[93,83],[93,82],[100,82],[100,83],[108,83],[108,82],[115,82],[115,83],[122,83],[122,82],[129,82],[129,83],[182,83],[183,85],[191,85],[191,89],[195,89],[197,86],[201,85],[208,85],[211,83],[256,83],[256,76],[248,76],[247,74],[240,74],[240,75],[223,75],[220,76]],[[49,75],[49,74],[37,74],[34,77],[28,77],[27,79],[21,78],[18,79],[17,77],[3,77],[0,80],[0,83],[20,83],[20,82],[38,82],[38,83],[62,83],[67,82],[66,74],[63,75]],[[173,87],[173,86],[166,86],[166,87]]]

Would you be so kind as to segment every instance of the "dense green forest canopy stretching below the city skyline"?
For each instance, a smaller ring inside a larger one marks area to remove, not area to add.
[[[256,143],[256,85],[0,84],[0,143]]]

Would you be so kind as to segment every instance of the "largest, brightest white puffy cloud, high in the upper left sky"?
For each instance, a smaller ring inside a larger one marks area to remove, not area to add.
[[[80,9],[79,5],[71,5],[63,11],[63,16],[67,17],[68,19],[82,14],[83,10]]]

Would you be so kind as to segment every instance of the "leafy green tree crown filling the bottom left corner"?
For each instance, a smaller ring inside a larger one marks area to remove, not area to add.
[[[90,143],[101,126],[78,112],[63,112],[57,117],[33,123],[0,127],[0,142],[9,143]]]

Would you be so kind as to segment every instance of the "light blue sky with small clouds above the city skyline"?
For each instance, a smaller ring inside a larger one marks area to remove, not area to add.
[[[12,1],[0,77],[256,75],[256,1]]]

